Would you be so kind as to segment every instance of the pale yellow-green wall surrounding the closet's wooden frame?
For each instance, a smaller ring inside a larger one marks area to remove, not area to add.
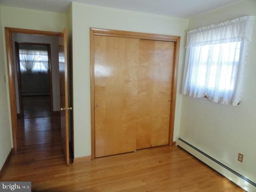
[[[178,78],[180,85],[188,20],[72,3],[74,157],[91,154],[90,27],[181,36]],[[178,86],[174,138],[178,135],[180,127],[181,102],[182,96]]]

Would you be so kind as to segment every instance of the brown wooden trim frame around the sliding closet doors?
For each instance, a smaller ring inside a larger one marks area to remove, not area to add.
[[[91,150],[92,150],[91,159],[92,160],[95,159],[95,103],[94,103],[94,100],[95,100],[94,36],[95,35],[174,42],[174,58],[173,58],[173,66],[172,66],[172,88],[171,88],[171,102],[170,102],[169,137],[168,137],[168,144],[170,146],[174,145],[173,131],[174,131],[177,78],[178,78],[180,36],[90,28],[90,80],[91,80],[90,97],[91,97]]]

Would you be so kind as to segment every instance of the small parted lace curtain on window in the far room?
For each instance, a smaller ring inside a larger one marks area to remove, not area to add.
[[[48,72],[48,51],[19,49],[21,72]]]

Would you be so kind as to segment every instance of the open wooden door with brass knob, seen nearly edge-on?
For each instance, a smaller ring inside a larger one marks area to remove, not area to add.
[[[68,63],[67,63],[67,33],[64,29],[59,36],[59,71],[60,71],[60,116],[61,142],[66,164],[69,165],[69,111],[68,106]]]

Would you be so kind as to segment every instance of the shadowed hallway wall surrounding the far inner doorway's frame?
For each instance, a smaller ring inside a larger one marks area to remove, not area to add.
[[[29,42],[29,43],[46,43],[50,44],[51,48],[51,67],[52,67],[52,100],[53,110],[60,110],[60,76],[59,76],[59,48],[58,37],[56,36],[43,36],[43,35],[30,35],[30,34],[12,34],[13,46],[13,61],[16,66],[16,54],[14,42]],[[18,95],[18,79],[17,70],[15,68],[15,89],[16,89],[16,106],[17,113],[20,112],[19,95]]]

